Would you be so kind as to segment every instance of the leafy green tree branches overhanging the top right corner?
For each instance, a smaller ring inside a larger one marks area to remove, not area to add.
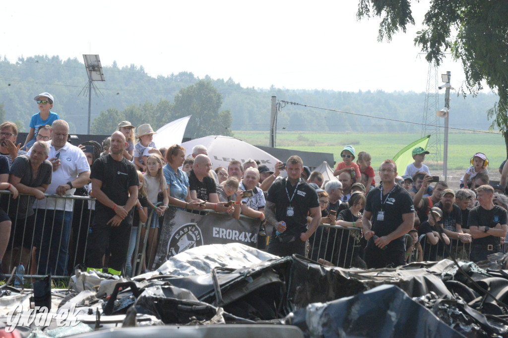
[[[418,0],[417,0],[418,1]],[[390,41],[408,24],[415,24],[411,0],[360,0],[358,18],[382,17],[378,41]],[[417,32],[415,45],[427,53],[427,61],[437,65],[450,50],[462,61],[465,86],[476,95],[482,82],[497,92],[499,101],[487,111],[492,126],[503,134],[508,156],[508,4],[506,0],[433,0],[425,14],[424,28]],[[452,31],[457,28],[457,32]],[[462,94],[465,95],[462,89]]]

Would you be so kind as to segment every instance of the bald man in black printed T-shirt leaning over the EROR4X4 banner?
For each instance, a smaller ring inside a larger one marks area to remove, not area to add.
[[[232,206],[226,207],[224,202],[219,203],[215,181],[208,176],[211,168],[212,163],[208,156],[203,154],[196,156],[194,165],[188,172],[190,197],[195,201],[203,202],[200,209],[232,212]]]

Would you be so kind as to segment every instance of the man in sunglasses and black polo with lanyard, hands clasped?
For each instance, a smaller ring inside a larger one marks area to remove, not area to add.
[[[363,234],[368,240],[365,262],[369,269],[404,264],[403,236],[412,229],[415,221],[411,196],[395,183],[395,163],[385,160],[379,176],[382,183],[368,193],[362,218]]]

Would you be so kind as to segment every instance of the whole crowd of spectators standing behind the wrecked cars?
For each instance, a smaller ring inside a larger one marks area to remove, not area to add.
[[[470,159],[458,190],[431,175],[421,147],[412,149],[414,162],[402,176],[393,161],[384,161],[378,185],[371,155],[356,154],[352,145],[342,149],[336,179],[328,181],[298,156],[273,169],[253,159],[214,168],[203,145],[157,148],[149,124],[121,121],[103,144],[73,145],[68,123],[50,110],[53,96],[34,99],[39,112],[23,145],[16,145],[14,123],[0,125],[0,190],[10,191],[0,199],[2,275],[2,268],[11,271],[20,261],[34,274],[62,276],[74,264],[130,274],[133,239],[150,219],[141,262],[147,271],[170,205],[259,218],[270,235],[268,252],[344,267],[398,266],[466,251],[478,261],[503,251],[508,165],[499,167],[500,184],[490,186],[483,153]],[[96,200],[75,202],[72,195]],[[402,242],[405,234],[409,245]]]

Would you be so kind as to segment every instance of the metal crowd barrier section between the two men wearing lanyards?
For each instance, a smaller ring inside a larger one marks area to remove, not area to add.
[[[411,245],[410,235],[404,235],[404,251]],[[308,258],[341,268],[365,268],[363,261],[367,241],[361,228],[319,224],[308,241]],[[359,259],[360,258],[360,259]]]

